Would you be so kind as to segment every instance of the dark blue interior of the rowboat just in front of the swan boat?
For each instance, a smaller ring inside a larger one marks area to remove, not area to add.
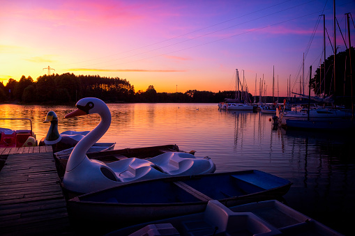
[[[258,173],[246,172],[239,175],[204,175],[204,178],[187,176],[185,178],[166,178],[159,182],[143,181],[114,187],[103,191],[79,196],[80,201],[105,203],[194,203],[213,199],[227,199],[259,193],[274,186],[271,180],[262,177],[257,180]],[[211,186],[216,186],[211,188]],[[137,191],[146,194],[130,193]],[[104,193],[104,194],[103,194]]]

